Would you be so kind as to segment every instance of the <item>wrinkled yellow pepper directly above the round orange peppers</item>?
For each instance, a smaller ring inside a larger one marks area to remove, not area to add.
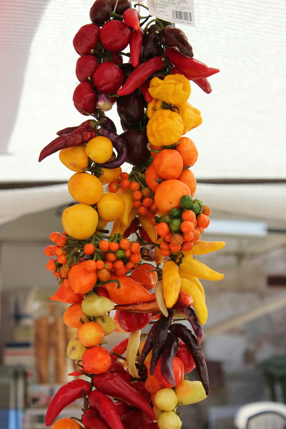
[[[178,113],[171,110],[157,110],[147,124],[147,136],[151,145],[169,146],[182,136],[184,122]]]

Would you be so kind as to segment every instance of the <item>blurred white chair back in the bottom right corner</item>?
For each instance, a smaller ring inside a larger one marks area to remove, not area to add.
[[[253,402],[235,414],[238,429],[286,429],[286,405],[280,402]]]

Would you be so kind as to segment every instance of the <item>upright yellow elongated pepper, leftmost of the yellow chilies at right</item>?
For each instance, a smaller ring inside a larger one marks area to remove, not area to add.
[[[163,293],[167,308],[177,302],[181,288],[181,277],[174,261],[166,261],[163,265]]]

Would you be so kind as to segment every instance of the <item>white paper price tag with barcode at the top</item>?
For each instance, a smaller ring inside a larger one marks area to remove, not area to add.
[[[156,18],[195,27],[194,0],[148,0],[147,6]]]

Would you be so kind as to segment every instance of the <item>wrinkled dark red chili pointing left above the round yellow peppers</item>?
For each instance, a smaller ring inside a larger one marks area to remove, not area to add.
[[[45,146],[39,156],[39,162],[48,157],[51,154],[54,154],[61,149],[71,148],[73,146],[82,145],[83,143],[89,142],[96,136],[96,132],[88,130],[87,128],[78,128],[75,131],[72,131],[68,134],[63,134],[51,143]]]

